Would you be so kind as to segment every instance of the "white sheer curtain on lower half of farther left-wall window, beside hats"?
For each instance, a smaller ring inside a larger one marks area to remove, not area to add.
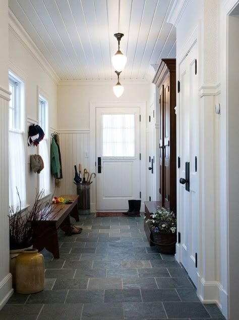
[[[39,189],[44,189],[44,195],[48,195],[50,193],[50,175],[47,139],[43,139],[39,143],[39,155],[42,157],[44,162],[44,168],[39,173]]]

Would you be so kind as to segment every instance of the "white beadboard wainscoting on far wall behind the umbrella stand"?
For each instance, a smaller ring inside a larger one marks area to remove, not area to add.
[[[61,179],[61,186],[55,189],[55,195],[76,194],[76,185],[73,183],[74,165],[79,170],[79,163],[81,163],[82,174],[84,168],[89,169],[90,130],[58,130],[57,132],[59,132],[63,179]]]

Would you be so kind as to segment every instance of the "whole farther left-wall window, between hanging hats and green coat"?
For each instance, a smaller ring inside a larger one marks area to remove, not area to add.
[[[39,190],[44,190],[44,195],[50,193],[49,155],[48,155],[48,103],[39,96],[39,125],[44,131],[44,139],[39,143],[39,155],[44,162],[44,169],[39,174]]]

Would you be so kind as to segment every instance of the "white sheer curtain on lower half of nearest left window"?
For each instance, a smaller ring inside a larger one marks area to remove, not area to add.
[[[21,131],[9,131],[9,203],[14,208],[19,205],[17,189],[22,207],[26,205],[25,165],[23,133]]]

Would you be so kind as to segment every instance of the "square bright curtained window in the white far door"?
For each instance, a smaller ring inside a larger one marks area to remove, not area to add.
[[[103,115],[103,157],[135,156],[135,116]]]

